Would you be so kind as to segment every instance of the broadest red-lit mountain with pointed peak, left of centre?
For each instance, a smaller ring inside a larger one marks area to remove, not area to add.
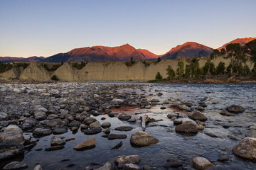
[[[129,44],[119,47],[93,46],[75,48],[70,52],[59,53],[46,58],[43,62],[112,62],[134,60],[152,60],[159,57],[148,50],[135,49]]]

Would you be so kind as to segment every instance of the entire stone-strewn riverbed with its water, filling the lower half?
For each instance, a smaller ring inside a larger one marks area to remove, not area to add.
[[[0,84],[0,169],[255,169],[255,103],[255,84]]]

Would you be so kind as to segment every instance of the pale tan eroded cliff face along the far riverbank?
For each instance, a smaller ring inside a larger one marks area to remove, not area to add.
[[[141,61],[136,62],[132,67],[128,67],[124,62],[88,62],[82,69],[75,69],[72,64],[65,62],[55,72],[48,72],[41,63],[32,62],[21,73],[16,69],[11,69],[1,73],[0,77],[50,80],[50,77],[55,74],[58,79],[63,81],[148,81],[155,79],[157,72],[160,72],[163,78],[167,78],[166,68],[168,65],[176,71],[179,61],[183,61],[184,65],[189,64],[185,59],[161,60],[157,64],[151,63],[149,67],[145,67]],[[217,66],[220,61],[225,62],[225,67],[230,63],[230,60],[223,57],[216,57],[213,63]],[[200,67],[203,67],[206,62],[206,58],[201,58],[199,60]],[[247,65],[252,69],[251,62],[248,62]]]

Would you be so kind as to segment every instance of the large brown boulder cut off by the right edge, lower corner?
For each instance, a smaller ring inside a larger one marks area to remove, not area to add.
[[[256,160],[256,138],[246,137],[233,147],[232,152],[238,157]]]

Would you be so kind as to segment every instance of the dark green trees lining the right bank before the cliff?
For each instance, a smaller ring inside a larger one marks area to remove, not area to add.
[[[230,64],[225,65],[224,62],[219,62],[217,66],[212,62],[215,57],[223,56],[225,59],[230,59]],[[220,74],[228,74],[228,76],[238,75],[256,76],[256,39],[247,42],[245,46],[241,46],[239,43],[228,44],[225,49],[215,49],[210,54],[210,58],[207,60],[203,67],[199,67],[199,60],[193,58],[188,61],[190,64],[184,65],[183,61],[178,62],[178,68],[176,72],[169,65],[166,68],[166,74],[168,79],[199,79],[206,77],[206,75],[214,76]],[[247,65],[247,61],[252,62],[253,68],[250,69]],[[156,79],[161,78],[161,74],[156,74]]]

